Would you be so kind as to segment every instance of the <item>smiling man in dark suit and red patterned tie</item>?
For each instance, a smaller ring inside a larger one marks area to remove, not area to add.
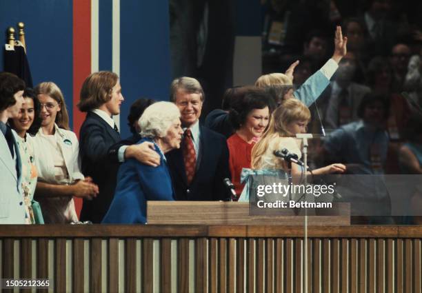
[[[223,179],[230,178],[228,147],[223,135],[199,123],[205,95],[199,81],[174,79],[170,100],[181,112],[183,140],[180,149],[166,154],[176,199],[216,201],[225,199]]]

